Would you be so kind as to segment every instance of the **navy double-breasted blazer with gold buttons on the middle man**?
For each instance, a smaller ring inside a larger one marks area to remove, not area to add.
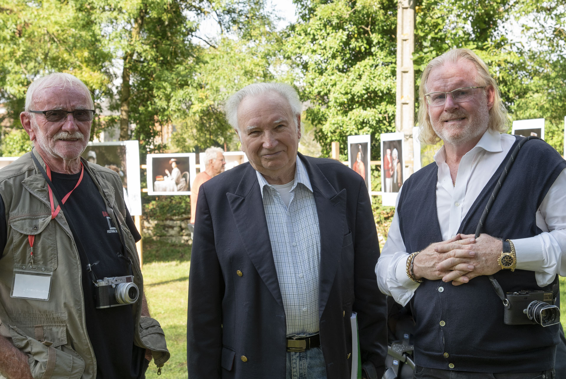
[[[353,311],[362,361],[371,361],[381,377],[387,309],[375,277],[379,244],[365,182],[335,160],[299,157],[320,225],[320,342],[327,377],[350,377]],[[190,379],[285,378],[285,310],[249,163],[199,190],[188,289]]]

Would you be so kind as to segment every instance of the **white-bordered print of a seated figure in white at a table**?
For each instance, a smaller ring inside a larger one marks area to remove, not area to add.
[[[194,152],[147,155],[148,195],[190,195],[196,176]]]

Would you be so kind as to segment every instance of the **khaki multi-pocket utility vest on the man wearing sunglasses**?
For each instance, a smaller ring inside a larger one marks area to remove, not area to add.
[[[63,212],[51,219],[48,186],[31,154],[45,169],[41,156],[33,150],[0,171],[7,223],[6,248],[0,258],[0,334],[29,356],[34,378],[96,379],[96,357],[85,324],[79,253]],[[122,181],[114,171],[85,160],[82,163],[97,179],[93,181],[98,191],[104,193],[108,215],[124,237],[134,282],[143,293],[135,241],[124,219]],[[57,207],[57,199],[54,202]],[[30,263],[29,235],[35,236],[35,265],[53,269],[48,301],[10,297],[14,265]],[[136,327],[133,342],[152,350],[155,364],[161,367],[170,356],[165,335],[156,320],[141,316],[141,301],[139,296],[132,308]]]

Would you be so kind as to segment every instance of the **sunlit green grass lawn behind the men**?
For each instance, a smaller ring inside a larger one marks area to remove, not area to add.
[[[145,294],[151,316],[165,331],[171,359],[162,368],[161,376],[153,362],[146,373],[148,379],[187,378],[187,297],[191,245],[175,245],[144,240],[143,276]],[[563,300],[561,321],[566,324],[566,278],[560,278]]]

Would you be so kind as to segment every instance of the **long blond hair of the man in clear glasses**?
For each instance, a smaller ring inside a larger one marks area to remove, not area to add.
[[[428,80],[428,75],[432,69],[444,65],[444,63],[456,63],[460,59],[466,59],[474,63],[474,66],[478,73],[478,83],[477,86],[493,87],[494,88],[494,106],[489,112],[489,122],[488,128],[493,131],[498,131],[499,133],[505,133],[509,129],[509,119],[507,118],[507,109],[505,109],[505,104],[501,101],[501,94],[499,92],[499,87],[495,79],[491,76],[486,63],[482,61],[481,58],[477,56],[470,49],[452,49],[448,50],[439,57],[432,59],[424,69],[421,75],[421,87],[419,88],[419,139],[425,144],[435,144],[440,141],[438,135],[436,135],[434,129],[432,129],[432,124],[430,122],[430,117],[428,115],[428,107],[424,94],[427,93],[426,82]]]

